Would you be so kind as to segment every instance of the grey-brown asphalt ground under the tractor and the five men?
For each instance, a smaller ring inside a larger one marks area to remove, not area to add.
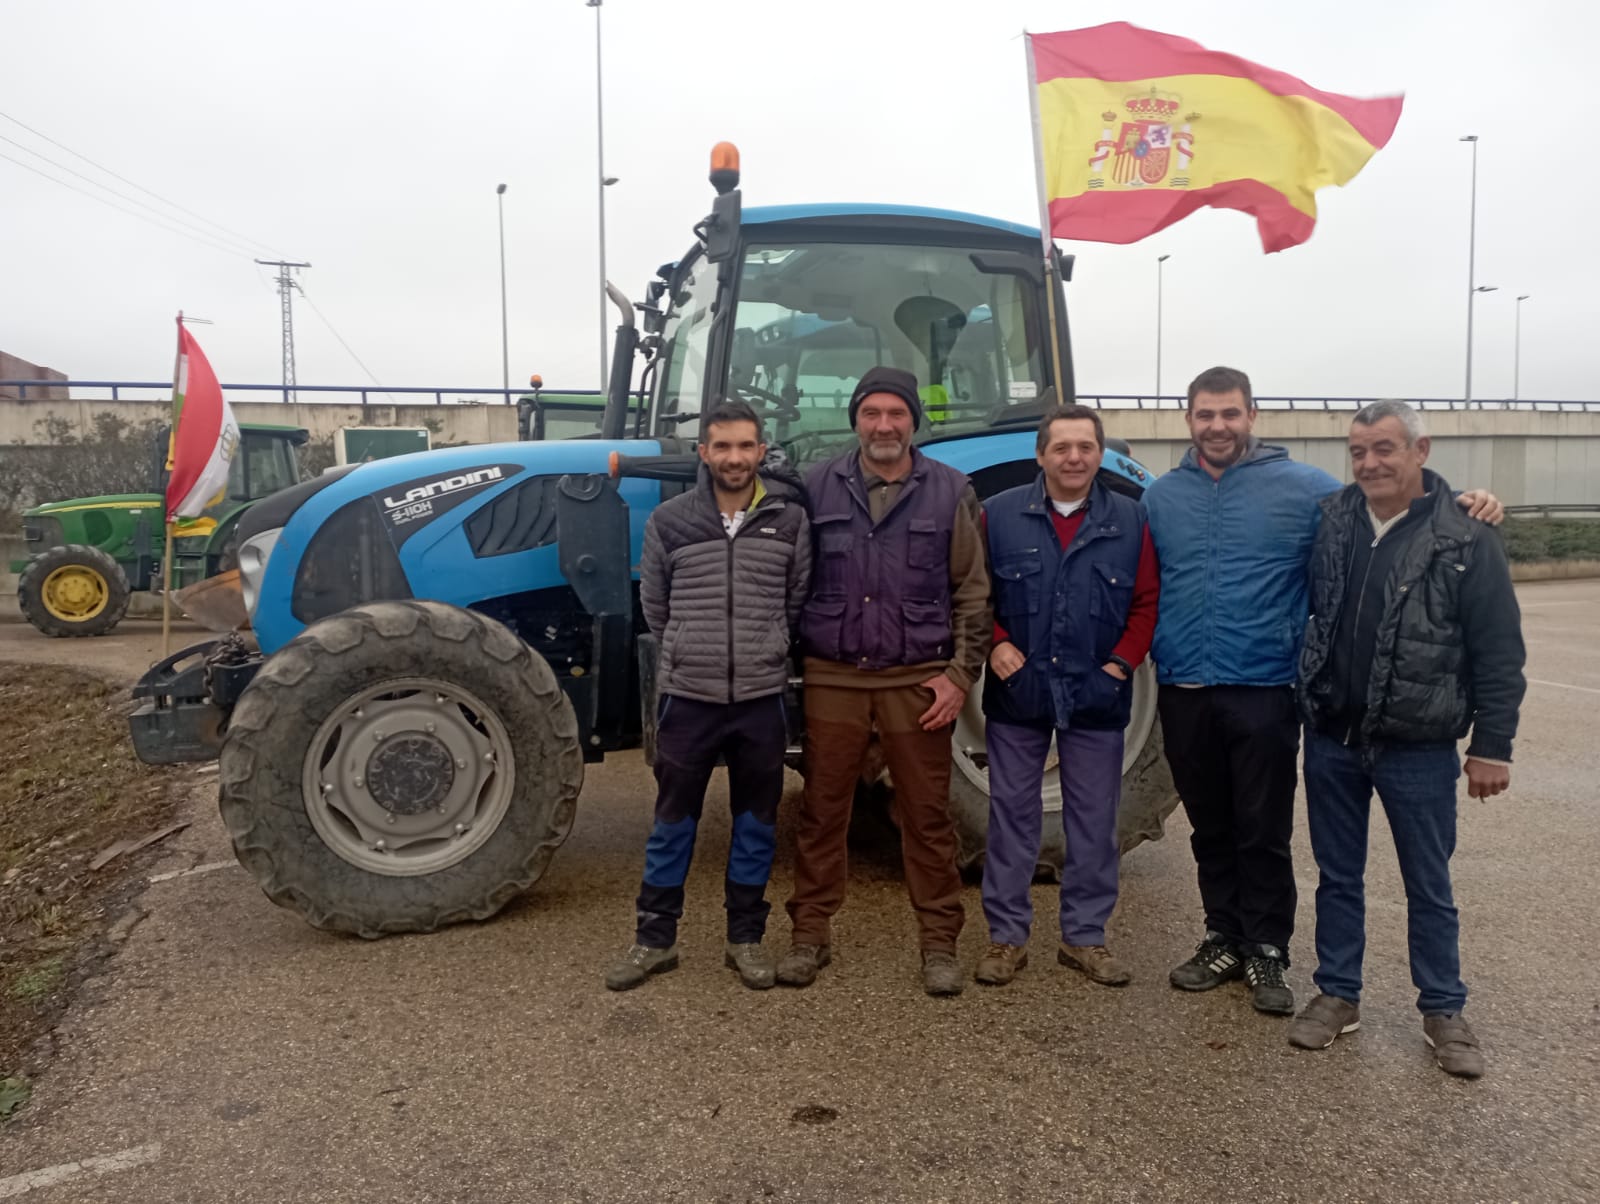
[[[1478,1082],[1422,1045],[1381,809],[1363,1026],[1306,1054],[1238,985],[1168,988],[1200,925],[1181,817],[1123,863],[1122,991],[1054,964],[1038,885],[1024,975],[926,997],[898,871],[867,852],[834,965],[808,991],[750,993],[722,969],[718,775],[683,967],[610,994],[650,823],[637,754],[590,767],[578,828],[525,901],[376,943],[314,932],[237,866],[208,869],[230,857],[200,777],[195,825],[157,871],[203,873],[146,890],[147,916],[61,1025],[53,1071],[0,1130],[0,1199],[1600,1199],[1600,583],[1520,597],[1533,680],[1512,789],[1462,799],[1454,861]],[[152,631],[51,642],[0,624],[0,660],[131,674]],[[771,898],[789,882],[781,849]],[[970,969],[976,887],[966,903]],[[771,927],[786,941],[781,908]]]

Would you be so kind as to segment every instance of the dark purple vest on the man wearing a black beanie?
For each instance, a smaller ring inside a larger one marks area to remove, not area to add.
[[[811,469],[805,652],[861,669],[950,656],[950,530],[966,477],[912,450],[899,500],[872,522],[856,450]]]

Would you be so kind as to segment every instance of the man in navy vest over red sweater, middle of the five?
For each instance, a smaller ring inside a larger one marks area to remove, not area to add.
[[[1131,977],[1106,948],[1106,922],[1117,905],[1122,733],[1160,580],[1144,506],[1096,480],[1104,448],[1094,410],[1054,407],[1038,424],[1038,477],[984,506],[995,599],[984,677],[990,945],[976,978],[990,986],[1027,965],[1051,736],[1067,837],[1056,957],[1106,986]]]

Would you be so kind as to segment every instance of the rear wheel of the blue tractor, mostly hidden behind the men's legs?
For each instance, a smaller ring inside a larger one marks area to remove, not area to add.
[[[984,752],[984,712],[981,688],[966,696],[955,720],[954,765],[950,767],[950,817],[960,845],[960,863],[976,871],[984,860],[989,834],[989,759]],[[1056,746],[1045,764],[1045,841],[1038,871],[1058,876],[1066,860],[1061,829],[1061,778]],[[1117,809],[1117,844],[1123,853],[1144,841],[1160,839],[1166,817],[1178,807],[1173,773],[1162,754],[1162,724],[1155,714],[1155,671],[1141,664],[1133,676],[1133,714],[1123,736],[1122,802]]]

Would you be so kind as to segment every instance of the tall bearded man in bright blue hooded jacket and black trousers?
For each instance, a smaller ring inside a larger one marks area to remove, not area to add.
[[[1189,384],[1186,421],[1194,447],[1144,495],[1162,565],[1158,711],[1206,925],[1170,981],[1210,991],[1245,978],[1258,1010],[1293,1015],[1294,677],[1318,503],[1341,485],[1251,434],[1256,402],[1237,368]],[[1459,501],[1501,519],[1490,493]]]

